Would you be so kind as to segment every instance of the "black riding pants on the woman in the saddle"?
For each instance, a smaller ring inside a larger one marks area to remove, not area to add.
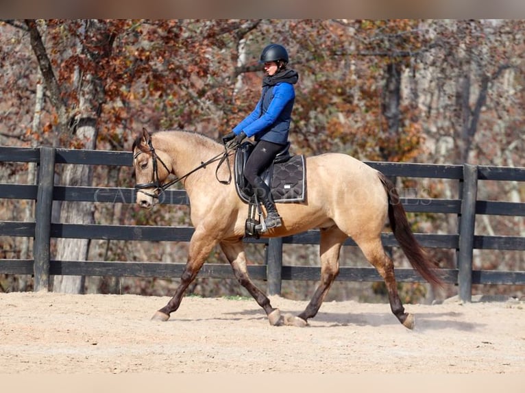
[[[260,177],[260,174],[270,166],[282,148],[282,144],[260,140],[255,145],[254,151],[249,155],[244,167],[244,177],[252,185],[257,197],[262,199],[262,201],[271,196],[271,191]]]

